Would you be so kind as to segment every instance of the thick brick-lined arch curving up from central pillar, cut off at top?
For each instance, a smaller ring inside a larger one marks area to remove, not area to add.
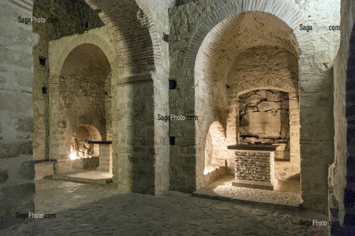
[[[155,71],[155,62],[161,64],[159,34],[143,1],[85,1],[99,12],[108,27],[119,60],[119,74]]]

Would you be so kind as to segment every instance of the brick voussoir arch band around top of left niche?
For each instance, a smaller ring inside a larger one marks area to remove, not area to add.
[[[68,44],[65,45],[65,47],[61,50],[57,61],[55,63],[54,69],[50,71],[50,82],[54,82],[53,80],[55,78],[60,77],[61,69],[64,64],[65,59],[67,56],[70,54],[70,52],[77,46],[81,44],[94,44],[98,46],[105,54],[107,57],[111,69],[115,68],[116,65],[116,60],[115,60],[115,50],[114,47],[102,36],[98,34],[90,34],[90,33],[84,33],[84,34],[78,34],[75,35],[75,38],[73,38]]]

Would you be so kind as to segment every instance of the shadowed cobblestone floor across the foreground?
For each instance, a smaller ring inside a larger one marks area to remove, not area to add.
[[[87,185],[37,180],[36,212],[56,213],[26,225],[34,235],[152,236],[327,236],[328,226],[301,227],[302,220],[327,220],[317,212],[287,212],[191,197],[121,193],[113,184]],[[22,226],[21,226],[22,227]]]

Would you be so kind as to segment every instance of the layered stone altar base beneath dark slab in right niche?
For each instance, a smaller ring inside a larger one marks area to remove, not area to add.
[[[235,152],[236,187],[274,190],[278,180],[275,178],[274,152],[241,151]]]

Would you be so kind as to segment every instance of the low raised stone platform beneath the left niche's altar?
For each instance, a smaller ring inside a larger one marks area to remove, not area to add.
[[[109,184],[112,182],[112,173],[88,170],[76,173],[55,174],[52,175],[52,178],[86,184]]]

